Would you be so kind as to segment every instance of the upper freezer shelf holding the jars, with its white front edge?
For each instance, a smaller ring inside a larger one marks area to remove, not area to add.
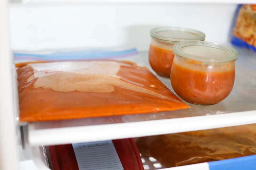
[[[256,53],[237,50],[234,88],[216,105],[188,103],[190,109],[176,111],[29,123],[29,143],[90,142],[256,123]],[[148,64],[147,54],[140,53]],[[169,79],[159,78],[172,90]]]

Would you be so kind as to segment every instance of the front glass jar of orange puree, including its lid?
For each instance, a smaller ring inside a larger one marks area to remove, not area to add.
[[[171,84],[183,100],[211,105],[228,96],[235,80],[235,49],[197,41],[176,43],[173,51]]]

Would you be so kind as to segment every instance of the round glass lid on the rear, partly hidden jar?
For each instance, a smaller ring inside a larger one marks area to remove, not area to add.
[[[201,31],[180,27],[156,27],[150,30],[150,36],[158,41],[171,44],[205,39],[205,34]]]

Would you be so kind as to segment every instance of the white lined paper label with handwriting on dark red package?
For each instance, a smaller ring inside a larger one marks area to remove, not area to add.
[[[123,170],[111,140],[72,145],[79,170]]]

